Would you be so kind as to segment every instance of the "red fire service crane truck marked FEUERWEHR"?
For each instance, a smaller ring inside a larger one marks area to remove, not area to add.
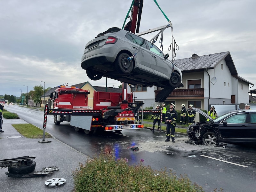
[[[135,124],[142,103],[132,102],[133,94],[127,93],[127,87],[123,87],[123,93],[95,91],[92,108],[88,107],[88,94],[87,90],[59,86],[51,93],[53,109],[48,108],[46,114],[54,115],[55,124],[67,121],[76,131],[83,129],[86,134],[99,129],[120,132],[143,128],[143,124]]]

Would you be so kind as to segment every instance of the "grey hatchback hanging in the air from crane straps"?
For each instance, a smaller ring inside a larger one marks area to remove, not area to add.
[[[86,44],[81,67],[91,80],[105,76],[133,85],[183,87],[181,70],[168,57],[146,39],[113,27]]]

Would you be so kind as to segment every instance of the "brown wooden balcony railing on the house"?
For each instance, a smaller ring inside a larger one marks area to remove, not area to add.
[[[156,90],[155,94],[157,95],[157,93],[160,90]],[[204,88],[199,88],[199,89],[174,89],[171,94],[168,96],[167,99],[185,99],[185,98],[204,98]]]

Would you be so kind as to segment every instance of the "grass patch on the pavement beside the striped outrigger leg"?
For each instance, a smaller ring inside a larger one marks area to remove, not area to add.
[[[43,138],[43,130],[32,124],[12,124],[12,126],[24,137],[31,139]],[[45,132],[45,138],[52,138],[52,136]]]

